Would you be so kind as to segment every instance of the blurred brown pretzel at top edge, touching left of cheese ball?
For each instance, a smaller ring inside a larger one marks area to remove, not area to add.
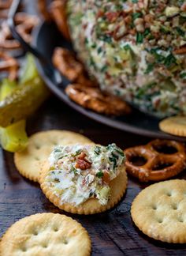
[[[70,40],[69,26],[66,16],[67,0],[55,0],[50,4],[50,13],[53,20],[58,26],[59,31],[65,36],[65,39]]]

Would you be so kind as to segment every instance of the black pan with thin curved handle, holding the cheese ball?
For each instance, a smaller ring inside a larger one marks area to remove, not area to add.
[[[111,118],[106,115],[99,115],[93,111],[89,111],[69,100],[69,97],[65,95],[65,87],[69,85],[70,81],[63,77],[58,70],[54,68],[51,62],[51,56],[55,47],[61,46],[73,51],[72,45],[61,36],[61,33],[58,32],[58,28],[56,28],[54,23],[47,22],[43,22],[37,28],[35,28],[33,33],[34,46],[26,43],[17,32],[13,19],[17,13],[20,2],[20,0],[14,0],[13,5],[9,10],[9,28],[11,29],[14,38],[21,43],[24,51],[31,52],[32,55],[35,56],[35,61],[40,75],[43,77],[46,85],[52,92],[54,92],[56,96],[58,96],[70,107],[73,107],[76,111],[79,111],[83,115],[86,115],[95,121],[102,122],[108,126],[147,137],[186,141],[186,137],[171,136],[163,133],[158,129],[158,122],[160,119],[138,111],[136,108],[133,108],[131,115]]]

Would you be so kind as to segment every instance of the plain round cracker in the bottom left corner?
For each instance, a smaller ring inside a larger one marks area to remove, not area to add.
[[[69,216],[37,213],[18,220],[0,242],[1,256],[89,256],[91,239]]]

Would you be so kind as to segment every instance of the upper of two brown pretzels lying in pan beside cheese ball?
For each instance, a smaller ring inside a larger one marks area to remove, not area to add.
[[[52,61],[54,66],[70,81],[86,86],[98,86],[96,81],[91,81],[90,78],[87,77],[84,65],[76,60],[72,51],[57,47],[54,50]]]

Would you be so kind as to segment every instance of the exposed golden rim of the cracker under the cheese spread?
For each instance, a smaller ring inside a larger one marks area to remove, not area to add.
[[[106,210],[113,208],[116,205],[123,195],[125,194],[125,190],[127,187],[127,174],[125,171],[125,167],[120,168],[120,173],[117,175],[115,179],[110,182],[110,199],[107,205],[101,205],[99,200],[96,198],[89,198],[81,205],[71,205],[69,203],[61,204],[60,198],[54,194],[53,190],[51,190],[50,186],[45,182],[45,177],[49,171],[49,163],[46,162],[43,165],[43,170],[40,172],[39,183],[41,185],[41,189],[46,197],[59,209],[63,209],[69,213],[77,213],[77,214],[95,214],[102,213]]]

